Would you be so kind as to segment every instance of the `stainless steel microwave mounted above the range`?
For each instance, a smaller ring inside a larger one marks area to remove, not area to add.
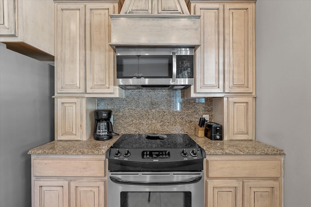
[[[117,47],[123,89],[183,89],[193,85],[194,48]]]

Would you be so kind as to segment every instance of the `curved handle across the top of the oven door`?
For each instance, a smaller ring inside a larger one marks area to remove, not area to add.
[[[183,185],[189,183],[196,183],[202,179],[202,175],[196,177],[190,177],[187,180],[178,181],[160,181],[160,182],[146,182],[146,181],[133,181],[133,180],[122,180],[120,177],[110,176],[111,181],[115,183],[127,184],[127,185]]]

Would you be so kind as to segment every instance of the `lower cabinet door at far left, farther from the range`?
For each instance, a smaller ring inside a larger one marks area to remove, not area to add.
[[[67,180],[35,180],[34,207],[68,207],[68,186]]]

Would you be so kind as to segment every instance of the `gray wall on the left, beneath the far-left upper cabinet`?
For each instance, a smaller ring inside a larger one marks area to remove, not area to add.
[[[27,152],[53,139],[54,67],[4,47],[0,45],[0,207],[30,207]]]

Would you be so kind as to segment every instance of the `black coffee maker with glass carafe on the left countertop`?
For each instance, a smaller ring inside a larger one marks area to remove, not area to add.
[[[112,123],[110,122],[112,111],[103,109],[94,111],[95,116],[95,140],[110,140],[112,133],[115,133],[112,129]],[[116,133],[117,134],[117,133]]]

